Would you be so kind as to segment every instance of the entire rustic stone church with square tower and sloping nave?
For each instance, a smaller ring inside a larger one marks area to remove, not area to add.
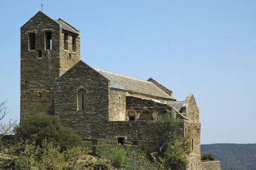
[[[108,139],[109,144],[143,140],[156,151],[154,120],[166,109],[180,120],[182,135],[190,135],[189,169],[220,167],[220,162],[201,162],[193,94],[178,102],[152,78],[143,81],[93,68],[80,60],[80,31],[65,20],[38,12],[20,28],[20,119],[58,115],[83,139]]]

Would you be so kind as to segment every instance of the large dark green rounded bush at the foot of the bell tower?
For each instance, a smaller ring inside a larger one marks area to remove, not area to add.
[[[60,118],[47,114],[34,114],[23,118],[15,131],[17,139],[32,140],[36,135],[35,145],[42,146],[42,141],[46,138],[54,146],[60,145],[61,150],[73,148],[82,142],[81,137],[71,128],[61,125]]]

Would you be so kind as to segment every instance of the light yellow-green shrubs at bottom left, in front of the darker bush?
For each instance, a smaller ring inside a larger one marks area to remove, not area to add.
[[[61,152],[60,146],[55,147],[47,139],[42,141],[42,147],[36,146],[35,140],[27,140],[17,144],[13,153],[20,148],[24,150],[13,155],[15,169],[83,169],[77,164],[77,159],[84,153],[79,147]]]

